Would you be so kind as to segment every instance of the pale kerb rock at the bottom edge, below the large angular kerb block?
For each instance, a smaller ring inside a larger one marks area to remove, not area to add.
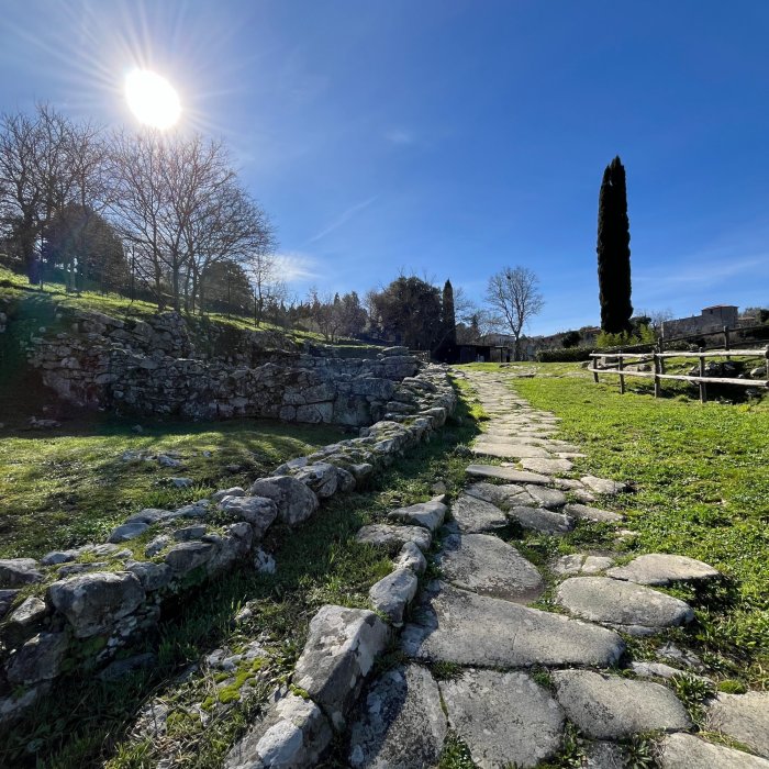
[[[321,709],[288,691],[278,691],[267,714],[227,754],[224,769],[313,767],[333,733]]]

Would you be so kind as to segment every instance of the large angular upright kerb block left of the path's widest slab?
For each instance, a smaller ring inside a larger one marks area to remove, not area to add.
[[[343,729],[374,660],[390,632],[374,613],[326,605],[310,622],[310,633],[293,673],[293,682]]]

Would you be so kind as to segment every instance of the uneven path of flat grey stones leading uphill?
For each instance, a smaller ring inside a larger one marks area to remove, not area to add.
[[[516,526],[564,535],[580,520],[601,522],[615,525],[620,539],[627,536],[622,515],[590,503],[606,504],[628,489],[593,476],[557,477],[569,476],[571,460],[581,456],[580,447],[554,438],[558,419],[515,395],[503,375],[458,376],[471,382],[490,414],[464,492],[450,509],[436,499],[393,511],[392,526],[359,533],[365,542],[403,546],[397,570],[386,578],[401,611],[393,616],[381,594],[384,580],[371,599],[395,626],[403,616],[405,624],[401,664],[369,682],[350,718],[350,766],[434,767],[450,734],[478,767],[558,765],[571,723],[586,740],[583,766],[629,766],[621,740],[655,733],[657,766],[666,769],[769,769],[769,693],[718,694],[707,703],[707,728],[750,753],[734,749],[696,735],[669,686],[680,669],[628,664],[625,655],[621,633],[646,636],[693,618],[691,606],[656,587],[702,582],[718,572],[675,555],[616,565],[614,553],[581,553],[556,559],[542,573],[506,542]],[[482,464],[484,457],[504,461]],[[420,548],[430,548],[431,535],[441,543],[433,579],[403,614],[415,584],[404,572],[424,570]],[[551,580],[554,603],[547,605],[554,611],[527,605]],[[686,654],[669,647],[678,658],[668,660],[686,667]],[[622,667],[633,675],[623,676]]]

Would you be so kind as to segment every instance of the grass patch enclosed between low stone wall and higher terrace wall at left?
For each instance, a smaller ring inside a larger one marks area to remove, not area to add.
[[[132,432],[133,424],[92,414],[54,431],[5,434],[0,441],[0,557],[40,557],[103,542],[112,527],[143,508],[178,508],[223,486],[247,484],[287,459],[344,437],[336,427],[260,420],[143,422],[141,435]],[[123,461],[125,452],[178,452],[183,467]],[[172,488],[168,479],[177,476],[191,478],[194,486]]]

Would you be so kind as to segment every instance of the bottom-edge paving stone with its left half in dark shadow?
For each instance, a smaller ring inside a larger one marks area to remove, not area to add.
[[[446,738],[441,692],[430,672],[405,665],[382,673],[361,698],[350,732],[356,769],[412,769],[438,762]]]

